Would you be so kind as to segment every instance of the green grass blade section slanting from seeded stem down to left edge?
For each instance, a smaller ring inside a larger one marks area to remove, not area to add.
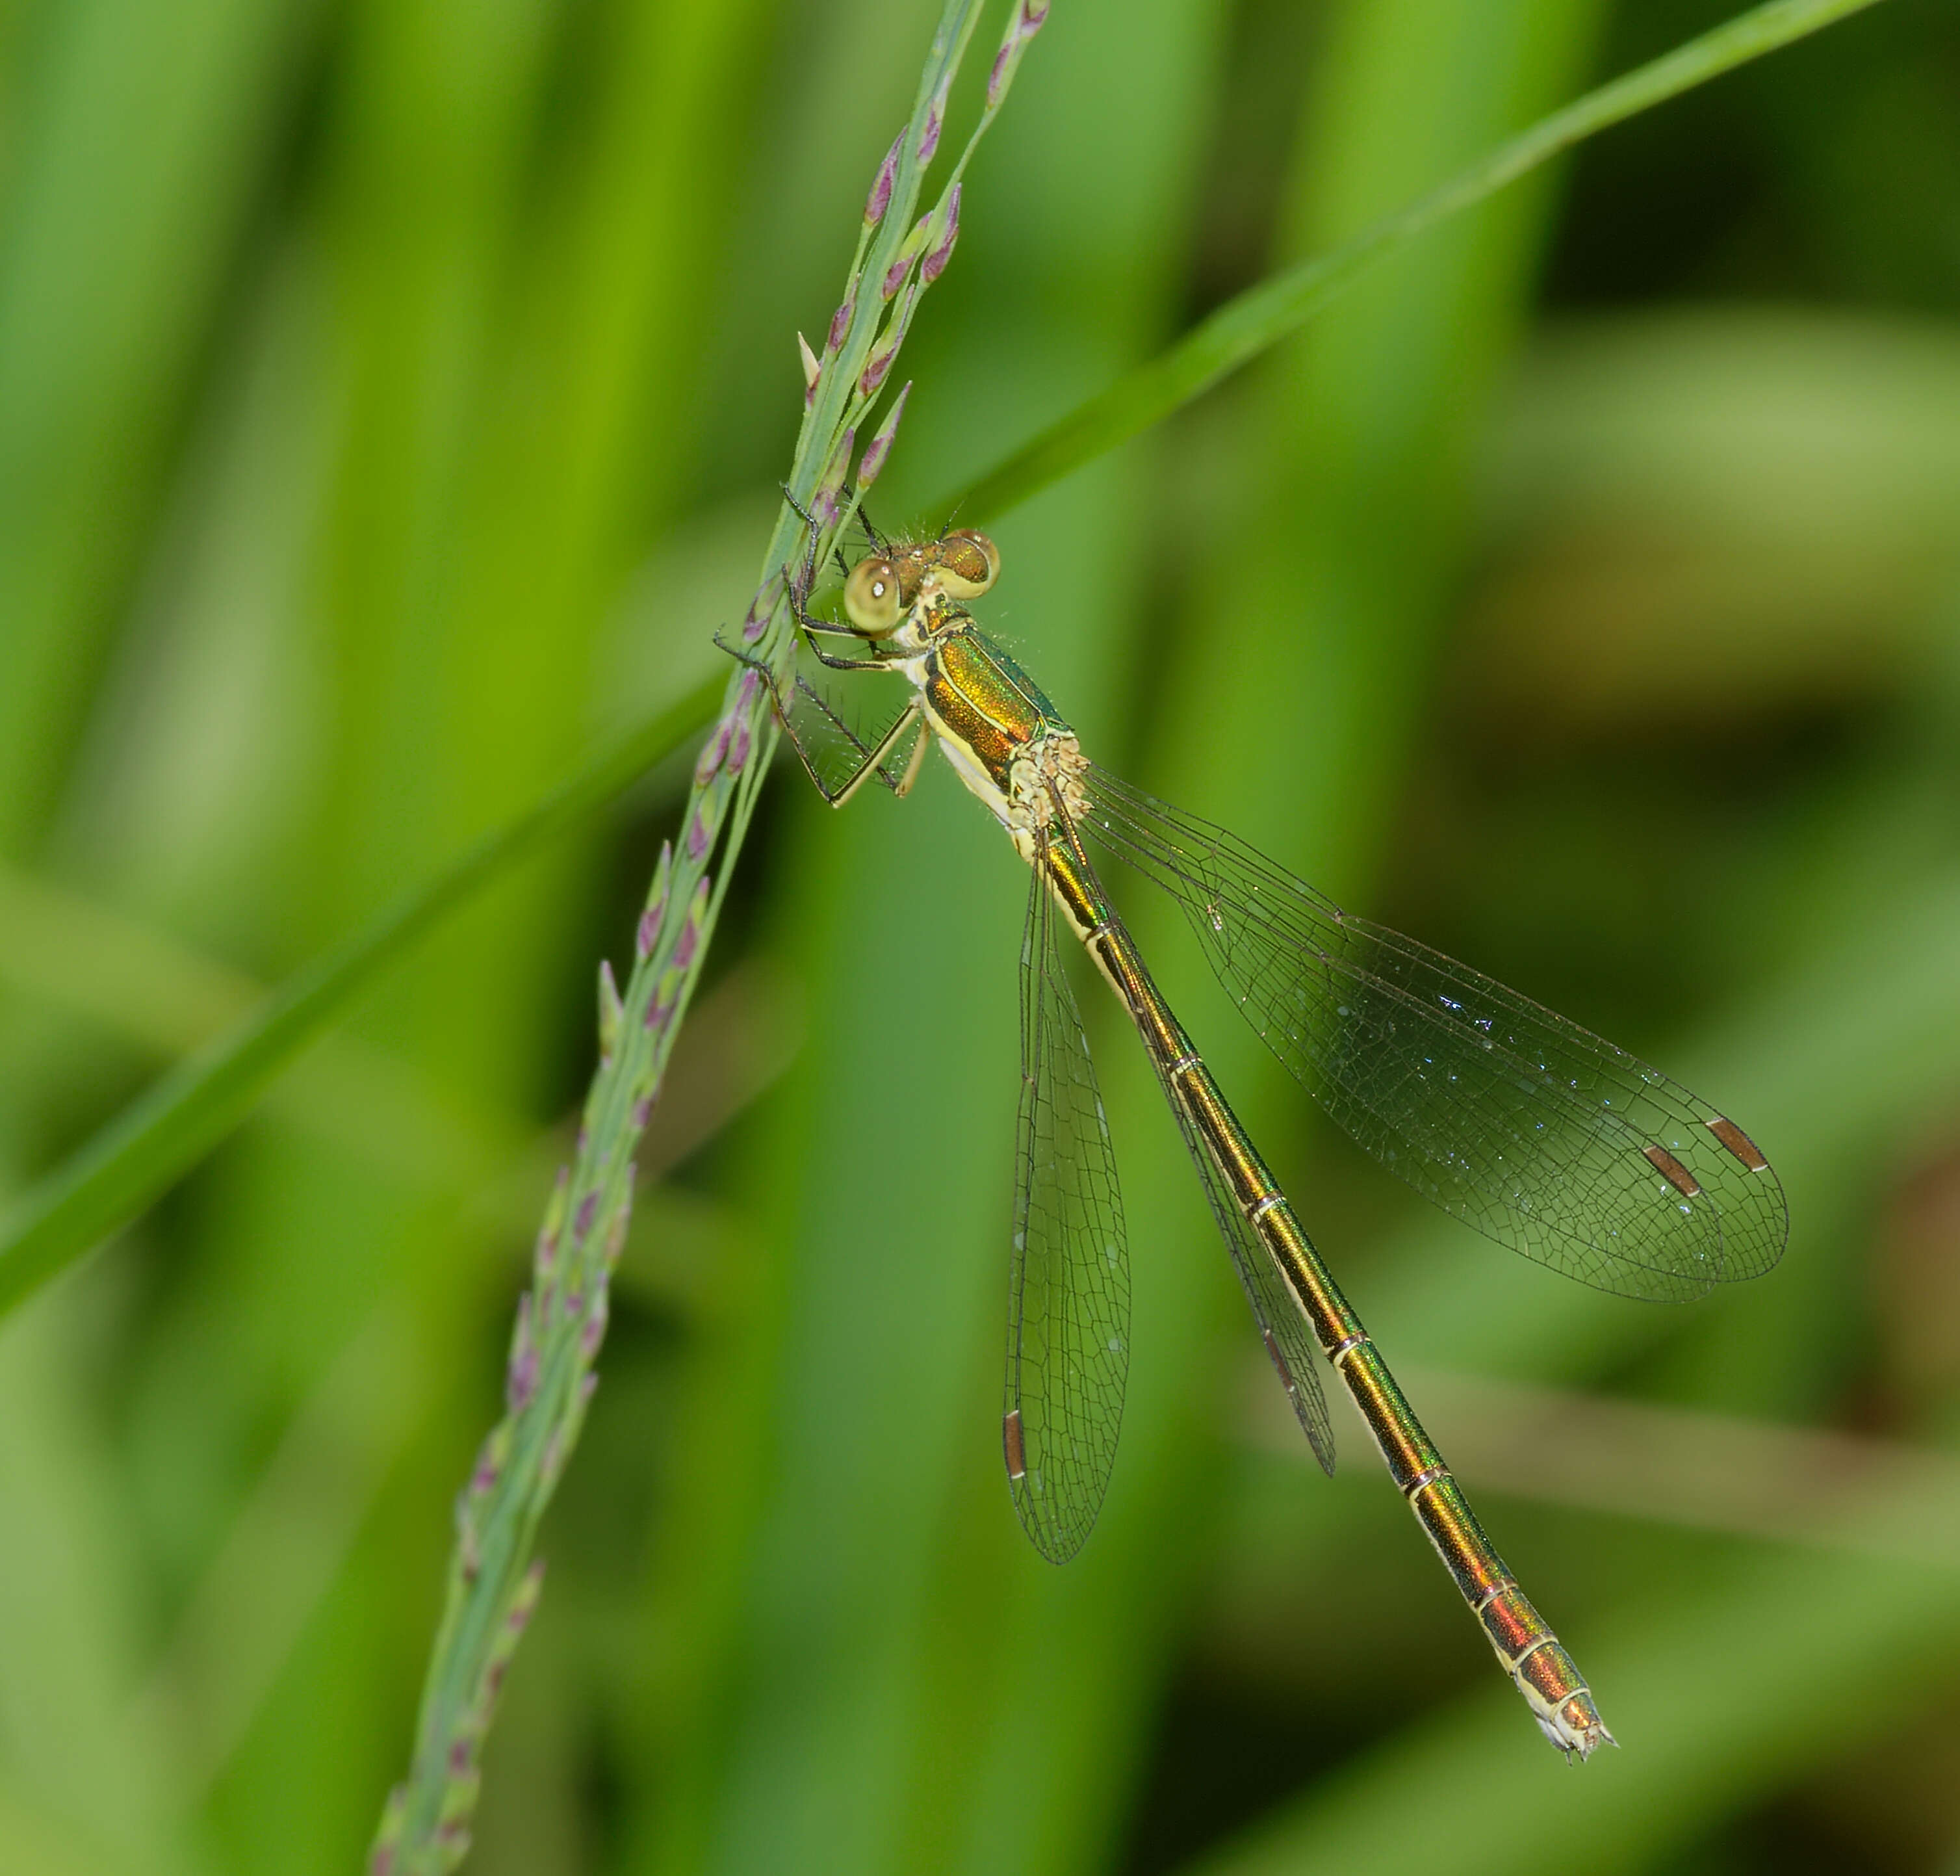
[[[0,1233],[0,1315],[127,1223],[253,1110],[280,1070],[417,939],[492,880],[576,827],[708,721],[721,678],[629,731],[447,872],[300,970],[267,1004],[165,1074],[25,1194]]]

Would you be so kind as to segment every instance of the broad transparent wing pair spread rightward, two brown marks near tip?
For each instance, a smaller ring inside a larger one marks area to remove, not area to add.
[[[1682,1302],[1782,1257],[1776,1174],[1678,1082],[1221,827],[1100,768],[1086,790],[1084,835],[1178,900],[1266,1047],[1445,1211],[1621,1296]]]

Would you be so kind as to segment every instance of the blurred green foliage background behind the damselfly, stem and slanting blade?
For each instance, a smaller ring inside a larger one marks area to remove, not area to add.
[[[1729,10],[1060,0],[880,519]],[[933,16],[0,6],[0,1194],[717,666]],[[786,770],[470,1868],[1960,1870],[1960,14],[1611,131],[996,533],[990,623],[1113,766],[1776,1159],[1766,1282],[1560,1282],[1335,1137],[1133,896],[1623,1751],[1546,1751],[1345,1409],[1311,1466],[1100,1006],[1131,1406],[1088,1551],[1033,1555],[1021,872],[943,765],[837,817]],[[684,780],[0,1329],[10,1876],[359,1864]]]

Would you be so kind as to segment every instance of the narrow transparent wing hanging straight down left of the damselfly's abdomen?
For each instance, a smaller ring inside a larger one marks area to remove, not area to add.
[[[1004,1447],[1013,1507],[1049,1562],[1082,1549],[1115,1462],[1129,1374],[1129,1249],[1109,1121],[1033,866],[1021,939],[1021,1160]]]

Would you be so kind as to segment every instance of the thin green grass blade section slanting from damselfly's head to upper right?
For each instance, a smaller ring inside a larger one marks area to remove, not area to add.
[[[1601,84],[1564,110],[1541,118],[1507,143],[1499,143],[1427,196],[1384,216],[1352,241],[1227,300],[1170,351],[1117,378],[1107,390],[998,463],[962,496],[929,512],[960,514],[968,523],[976,523],[1025,502],[1084,463],[1160,423],[1219,378],[1298,331],[1360,272],[1405,247],[1423,229],[1472,208],[1595,131],[1623,123],[1642,110],[1678,98],[1750,59],[1774,53],[1876,4],[1878,0],[1768,0],[1766,6],[1678,45],[1611,84]]]

